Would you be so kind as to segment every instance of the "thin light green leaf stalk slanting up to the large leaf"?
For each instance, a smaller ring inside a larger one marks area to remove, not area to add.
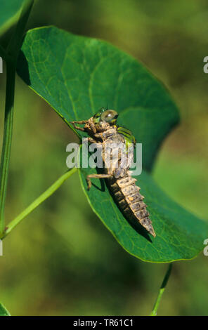
[[[64,173],[63,176],[60,176],[60,178],[58,178],[58,180],[56,180],[56,182],[53,183],[51,187],[49,187],[43,194],[41,194],[37,199],[35,199],[32,204],[27,206],[27,208],[22,211],[16,218],[14,218],[10,223],[8,223],[4,234],[1,235],[0,238],[3,239],[4,237],[6,237],[8,233],[11,232],[11,230],[13,230],[13,228],[22,221],[22,219],[24,219],[26,216],[28,216],[28,214],[34,211],[34,209],[36,209],[39,204],[41,204],[48,197],[50,197],[53,192],[56,192],[56,190],[58,190],[58,188],[65,182],[65,180],[67,180],[67,178],[70,178],[70,176],[72,176],[72,174],[76,171],[77,168],[74,167],[73,169]]]

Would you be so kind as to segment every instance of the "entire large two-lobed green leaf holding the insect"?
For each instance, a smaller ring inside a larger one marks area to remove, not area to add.
[[[143,168],[150,170],[160,143],[178,122],[166,88],[139,62],[104,41],[78,37],[55,27],[27,32],[18,74],[67,124],[88,119],[102,106],[119,112],[119,121],[143,143]],[[113,202],[105,183],[93,180],[86,191],[93,211],[126,251],[142,260],[190,259],[202,251],[207,225],[172,202],[143,171],[138,185],[148,204],[157,237],[129,223]]]

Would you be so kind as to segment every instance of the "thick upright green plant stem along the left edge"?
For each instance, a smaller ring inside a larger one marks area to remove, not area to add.
[[[18,21],[15,33],[11,39],[4,58],[6,59],[6,103],[4,114],[4,138],[1,151],[1,164],[0,164],[0,235],[4,233],[4,207],[6,201],[6,187],[8,183],[8,165],[11,154],[11,141],[13,133],[13,105],[15,96],[15,69],[22,36],[25,31],[25,25],[30,15],[33,0],[26,0],[20,19]],[[4,51],[4,48],[0,49]]]

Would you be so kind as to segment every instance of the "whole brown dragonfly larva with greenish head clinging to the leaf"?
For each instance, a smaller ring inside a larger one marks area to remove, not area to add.
[[[136,143],[131,131],[126,128],[117,126],[118,114],[115,110],[107,110],[101,108],[93,117],[82,120],[72,121],[74,128],[79,131],[86,132],[89,137],[89,143],[96,143],[97,147],[102,147],[102,157],[104,171],[101,174],[90,174],[86,177],[88,188],[91,188],[91,178],[105,178],[108,188],[115,199],[126,219],[134,219],[141,223],[152,236],[155,231],[152,227],[152,221],[149,218],[149,213],[146,209],[146,204],[143,202],[144,197],[140,194],[140,187],[136,183],[136,179],[132,178],[129,168],[134,160],[134,147]],[[76,124],[84,124],[84,127]],[[112,156],[112,147],[114,145]],[[119,147],[117,147],[119,146]],[[128,154],[127,161],[124,164],[122,157]]]

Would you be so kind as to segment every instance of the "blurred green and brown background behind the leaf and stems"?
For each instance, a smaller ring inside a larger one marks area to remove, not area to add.
[[[176,202],[206,220],[207,22],[206,0],[41,0],[28,23],[110,41],[166,84],[181,124],[164,141],[153,176]],[[4,93],[1,74],[1,133]],[[72,140],[60,117],[17,78],[8,221],[67,170],[65,147]],[[0,300],[12,315],[148,315],[166,269],[117,244],[74,174],[4,240]],[[208,315],[207,272],[203,253],[174,263],[158,315]]]

